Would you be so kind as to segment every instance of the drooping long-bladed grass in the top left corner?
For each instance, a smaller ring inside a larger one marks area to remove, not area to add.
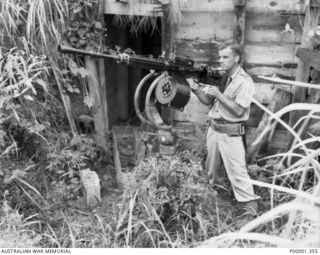
[[[43,52],[55,49],[68,13],[65,0],[16,1],[0,3],[2,33],[16,45],[30,43]],[[38,46],[38,47],[37,47]]]

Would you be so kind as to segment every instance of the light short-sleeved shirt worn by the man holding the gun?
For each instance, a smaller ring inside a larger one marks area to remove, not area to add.
[[[208,115],[213,119],[225,119],[230,122],[246,121],[249,118],[251,98],[254,95],[253,80],[242,68],[239,68],[231,78],[232,80],[223,94],[245,108],[244,113],[240,117],[236,116],[226,109],[219,100],[214,99]]]

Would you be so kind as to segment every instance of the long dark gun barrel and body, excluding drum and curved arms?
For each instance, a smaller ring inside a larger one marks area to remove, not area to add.
[[[155,59],[147,58],[138,55],[129,55],[126,53],[119,53],[117,55],[98,53],[94,51],[79,50],[65,45],[59,45],[58,51],[66,54],[84,55],[96,58],[105,58],[114,60],[120,64],[138,65],[148,69],[168,71],[173,73],[184,73],[190,76],[198,76],[203,78],[205,76],[218,77],[218,68],[213,70],[207,70],[203,67],[194,67],[194,60],[174,58],[174,59]]]

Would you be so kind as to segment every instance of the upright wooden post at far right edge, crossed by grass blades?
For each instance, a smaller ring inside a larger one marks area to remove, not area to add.
[[[309,7],[306,11],[302,35],[301,47],[303,48],[312,48],[310,41],[308,40],[308,33],[310,29],[318,25],[318,12],[316,8]],[[308,82],[309,79],[310,65],[308,63],[299,60],[296,81]],[[307,89],[306,88],[294,88],[292,102],[304,102],[306,100]],[[303,112],[293,111],[290,114],[289,124],[294,126],[294,124],[299,120],[303,115]]]

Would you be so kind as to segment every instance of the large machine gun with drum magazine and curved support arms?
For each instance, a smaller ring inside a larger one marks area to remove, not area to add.
[[[190,88],[185,80],[186,78],[194,77],[199,81],[204,81],[209,78],[210,82],[216,86],[221,84],[222,79],[219,68],[209,69],[205,66],[196,67],[195,62],[192,59],[184,59],[180,57],[169,59],[159,57],[158,59],[155,59],[127,53],[105,54],[94,51],[79,50],[64,45],[59,45],[58,51],[65,54],[105,58],[114,60],[119,64],[140,66],[150,69],[150,73],[143,77],[136,88],[134,95],[134,107],[142,122],[148,123],[160,130],[170,130],[171,126],[158,125],[152,118],[149,105],[150,97],[154,89],[156,101],[158,103],[181,110],[186,106],[190,99]],[[146,119],[139,109],[139,98],[142,87],[151,78],[154,80],[151,83],[145,98]]]

